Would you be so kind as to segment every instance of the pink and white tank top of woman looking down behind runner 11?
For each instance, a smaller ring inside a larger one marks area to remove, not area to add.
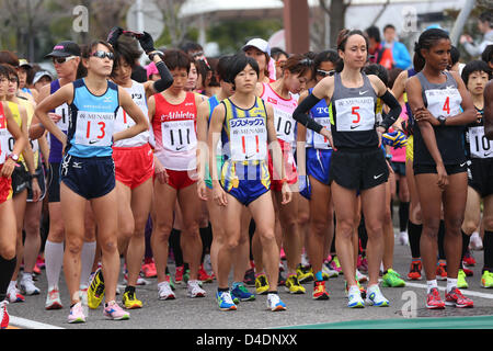
[[[294,144],[296,140],[296,121],[293,118],[298,101],[289,93],[289,99],[279,97],[270,83],[262,83],[261,98],[274,107],[274,126],[277,138]]]

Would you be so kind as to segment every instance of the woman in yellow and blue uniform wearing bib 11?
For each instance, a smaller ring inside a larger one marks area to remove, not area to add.
[[[272,105],[254,93],[259,79],[259,65],[251,57],[236,55],[229,66],[228,80],[234,94],[221,101],[214,112],[209,126],[209,165],[216,162],[219,138],[225,149],[220,180],[216,167],[210,168],[213,199],[223,211],[226,242],[218,252],[216,298],[222,310],[237,309],[229,293],[228,276],[232,256],[241,236],[241,215],[246,206],[255,220],[270,284],[267,308],[284,310],[286,305],[277,294],[279,248],[274,226],[275,213],[270,193],[271,177],[267,170],[267,143],[271,143],[274,167],[284,178],[280,148],[276,139]],[[283,205],[290,199],[287,183],[283,182]]]

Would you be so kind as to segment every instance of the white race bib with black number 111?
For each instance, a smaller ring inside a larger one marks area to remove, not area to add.
[[[188,151],[197,146],[193,120],[161,123],[162,145],[173,151]]]

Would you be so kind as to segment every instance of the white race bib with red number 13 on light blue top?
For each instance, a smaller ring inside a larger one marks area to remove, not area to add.
[[[76,144],[105,147],[112,145],[115,114],[78,111]]]

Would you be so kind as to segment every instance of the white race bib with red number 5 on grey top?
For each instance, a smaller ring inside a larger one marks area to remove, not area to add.
[[[375,129],[374,98],[347,98],[335,101],[337,132],[362,132]]]

